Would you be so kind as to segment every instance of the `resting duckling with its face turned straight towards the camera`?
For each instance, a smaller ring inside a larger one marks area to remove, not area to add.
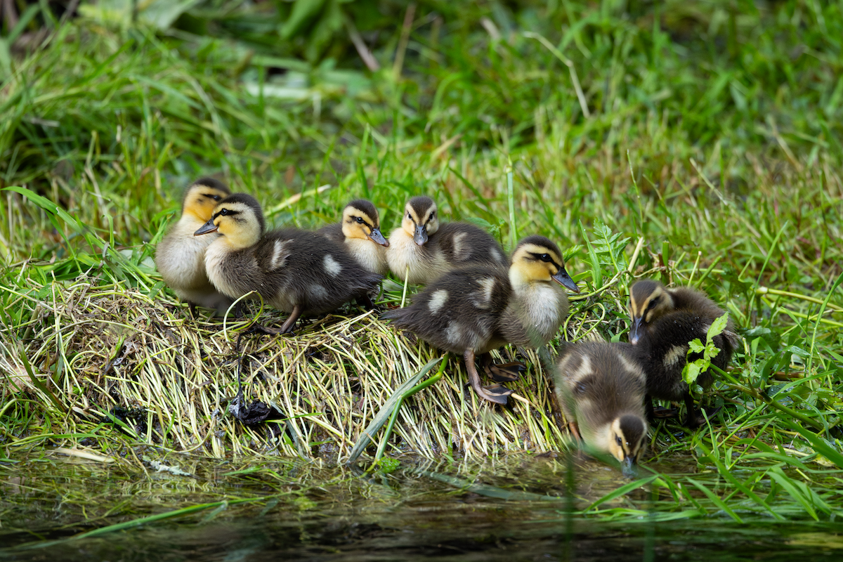
[[[465,265],[506,267],[506,254],[495,238],[467,222],[440,224],[436,202],[423,195],[407,201],[400,228],[389,235],[386,260],[402,280],[409,267],[407,281],[415,284]]]

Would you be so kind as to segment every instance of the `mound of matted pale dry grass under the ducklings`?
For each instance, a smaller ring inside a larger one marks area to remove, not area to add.
[[[194,319],[164,293],[153,299],[94,278],[47,286],[27,282],[31,291],[20,293],[19,306],[31,311],[30,320],[0,332],[0,409],[34,399],[49,414],[55,435],[105,419],[113,428],[100,433],[123,431],[137,442],[214,458],[280,455],[344,462],[396,389],[441,355],[381,322],[377,313],[351,306],[347,315],[300,323],[293,337],[243,335],[246,403],[259,399],[280,412],[278,420],[244,426],[228,414],[228,403],[237,393],[235,345],[255,318]],[[259,307],[251,308],[257,314]],[[602,303],[582,302],[566,324],[568,339],[593,332],[604,316]],[[260,315],[263,324],[281,321],[274,311]],[[478,399],[461,361],[450,356],[442,380],[401,406],[386,453],[483,458],[566,448],[543,366],[550,357],[540,361],[534,351],[502,352],[507,358],[518,354],[529,365],[524,377],[510,383],[518,394],[511,408]],[[383,434],[381,429],[373,435],[369,456]]]

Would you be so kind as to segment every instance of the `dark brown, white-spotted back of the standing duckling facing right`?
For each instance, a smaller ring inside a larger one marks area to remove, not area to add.
[[[410,306],[381,318],[438,349],[481,354],[507,343],[500,320],[511,292],[506,270],[467,267],[447,272],[412,297]]]

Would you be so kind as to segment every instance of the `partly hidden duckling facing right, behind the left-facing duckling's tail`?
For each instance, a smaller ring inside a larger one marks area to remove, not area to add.
[[[378,209],[371,201],[357,199],[342,210],[342,221],[316,231],[346,245],[346,249],[365,269],[385,276],[386,248],[389,242],[380,232]]]

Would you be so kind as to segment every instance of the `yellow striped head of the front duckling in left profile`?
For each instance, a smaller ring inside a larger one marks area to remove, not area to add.
[[[251,195],[235,193],[220,201],[212,217],[193,235],[220,233],[234,249],[248,248],[260,240],[264,224],[260,203]]]

